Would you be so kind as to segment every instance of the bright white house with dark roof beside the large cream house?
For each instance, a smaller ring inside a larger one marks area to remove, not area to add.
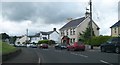
[[[53,29],[53,31],[49,32],[42,32],[35,34],[31,37],[31,43],[35,42],[38,43],[39,40],[54,40],[55,42],[60,42],[60,35],[56,31],[56,28]]]

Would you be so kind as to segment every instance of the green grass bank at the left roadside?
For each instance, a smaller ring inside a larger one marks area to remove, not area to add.
[[[0,41],[0,53],[2,52],[2,54],[8,54],[10,52],[14,52],[15,50],[16,50],[15,47]]]

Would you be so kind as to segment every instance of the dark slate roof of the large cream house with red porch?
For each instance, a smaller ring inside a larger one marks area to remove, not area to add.
[[[69,28],[69,27],[76,27],[76,26],[79,25],[83,20],[85,20],[85,17],[72,20],[72,21],[68,22],[66,25],[64,25],[61,29]],[[61,29],[60,29],[60,30],[61,30]]]

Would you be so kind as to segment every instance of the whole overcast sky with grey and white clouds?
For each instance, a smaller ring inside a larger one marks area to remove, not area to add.
[[[110,27],[118,21],[119,0],[92,0],[93,20],[100,35],[111,35]],[[0,33],[34,35],[39,31],[59,30],[68,20],[85,16],[89,0],[2,0]]]

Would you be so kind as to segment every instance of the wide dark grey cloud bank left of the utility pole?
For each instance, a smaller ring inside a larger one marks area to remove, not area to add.
[[[81,3],[82,4],[82,3]],[[84,4],[84,3],[83,3]],[[60,2],[7,2],[3,3],[3,17],[13,21],[31,20],[36,22],[41,18],[44,23],[60,23],[69,17],[81,17],[84,15],[85,9],[76,3],[60,3]]]

